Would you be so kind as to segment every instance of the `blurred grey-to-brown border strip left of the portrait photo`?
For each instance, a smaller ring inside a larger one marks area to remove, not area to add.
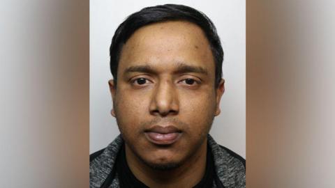
[[[89,185],[89,1],[1,1],[0,187]]]

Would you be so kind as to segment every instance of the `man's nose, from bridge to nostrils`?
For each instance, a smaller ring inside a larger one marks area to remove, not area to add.
[[[179,100],[172,81],[160,81],[151,98],[150,113],[154,116],[177,115]]]

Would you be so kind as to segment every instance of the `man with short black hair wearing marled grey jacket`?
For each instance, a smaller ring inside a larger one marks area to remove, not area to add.
[[[90,187],[245,187],[245,160],[209,135],[224,92],[214,24],[188,6],[144,8],[110,46],[121,132],[90,156]]]

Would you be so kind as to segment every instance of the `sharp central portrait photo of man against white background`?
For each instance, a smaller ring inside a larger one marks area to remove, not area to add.
[[[90,11],[90,187],[245,187],[245,1]]]

